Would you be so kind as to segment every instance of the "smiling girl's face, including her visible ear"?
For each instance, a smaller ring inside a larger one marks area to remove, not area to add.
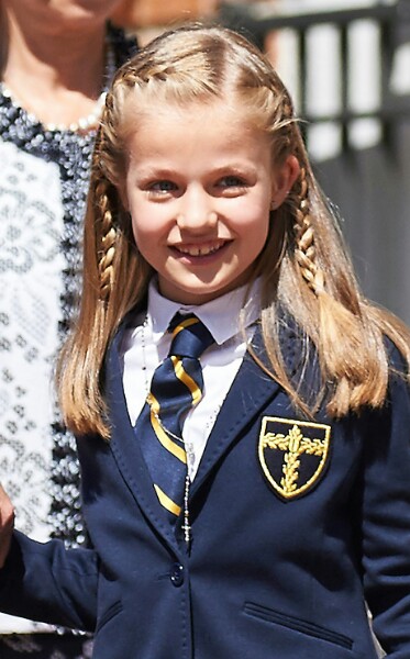
[[[298,161],[274,167],[268,136],[222,101],[155,110],[131,131],[123,197],[162,294],[201,304],[248,280]]]

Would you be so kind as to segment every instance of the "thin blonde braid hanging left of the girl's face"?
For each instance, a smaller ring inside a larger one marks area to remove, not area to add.
[[[112,261],[115,254],[117,231],[112,222],[109,198],[107,194],[108,181],[102,179],[96,189],[98,208],[101,211],[101,231],[98,271],[100,276],[100,299],[109,300],[113,286]]]

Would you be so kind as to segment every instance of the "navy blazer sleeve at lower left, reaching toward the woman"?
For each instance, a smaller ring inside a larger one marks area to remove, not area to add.
[[[97,617],[98,560],[91,549],[62,540],[36,543],[14,532],[0,570],[0,611],[92,632]]]

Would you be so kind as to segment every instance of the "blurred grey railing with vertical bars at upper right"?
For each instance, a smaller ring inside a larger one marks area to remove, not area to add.
[[[390,143],[396,123],[410,116],[409,94],[397,96],[392,93],[390,80],[395,53],[402,38],[403,25],[410,25],[410,1],[401,0],[395,3],[377,3],[354,9],[329,10],[304,13],[279,13],[266,7],[266,3],[235,4],[222,3],[220,19],[234,30],[244,32],[257,46],[264,48],[265,38],[269,33],[291,31],[296,38],[293,56],[297,57],[297,86],[298,113],[306,120],[307,126],[332,122],[341,131],[342,149],[351,147],[351,127],[357,120],[376,120],[380,126],[381,139]],[[377,87],[378,100],[374,108],[361,110],[352,105],[350,90],[354,75],[352,63],[350,35],[359,22],[370,22],[378,31],[377,53]],[[312,112],[309,102],[310,58],[309,36],[311,31],[320,25],[330,25],[337,34],[339,44],[339,109],[334,112]],[[410,36],[409,36],[410,40]],[[410,63],[409,63],[410,66]],[[309,129],[308,129],[309,130]]]

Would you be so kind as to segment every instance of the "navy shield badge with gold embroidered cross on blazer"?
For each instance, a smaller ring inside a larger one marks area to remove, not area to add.
[[[296,499],[315,485],[330,453],[331,426],[321,423],[264,416],[258,457],[275,492]]]

